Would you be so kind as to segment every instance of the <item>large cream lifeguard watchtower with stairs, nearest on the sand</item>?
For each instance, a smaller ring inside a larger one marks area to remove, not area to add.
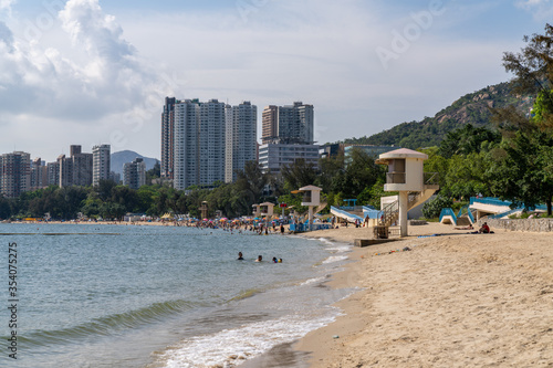
[[[386,229],[399,219],[400,235],[407,236],[407,212],[426,202],[439,189],[438,175],[425,172],[428,155],[400,148],[382,154],[376,164],[387,165],[385,191],[399,192],[398,200],[385,209],[379,227]]]

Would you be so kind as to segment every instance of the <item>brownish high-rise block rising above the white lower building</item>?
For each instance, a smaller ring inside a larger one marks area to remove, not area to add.
[[[289,106],[268,106],[262,114],[263,144],[301,144],[314,143],[313,105],[295,102]]]

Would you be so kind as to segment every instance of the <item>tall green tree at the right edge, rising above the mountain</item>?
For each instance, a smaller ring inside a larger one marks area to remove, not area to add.
[[[505,155],[493,167],[494,186],[502,197],[532,207],[540,201],[552,214],[553,177],[549,153],[553,144],[553,27],[545,34],[525,36],[519,53],[507,52],[503,66],[515,76],[514,93],[536,97],[533,117],[513,107],[497,109],[494,120],[503,134]]]

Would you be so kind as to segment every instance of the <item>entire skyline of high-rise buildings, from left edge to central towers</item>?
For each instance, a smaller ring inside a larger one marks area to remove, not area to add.
[[[161,113],[161,179],[176,189],[232,182],[247,162],[259,161],[262,169],[278,174],[296,159],[316,165],[319,146],[313,136],[313,105],[296,102],[270,105],[262,112],[259,145],[258,108],[250,102],[229,105],[218,99],[166,97]],[[0,192],[18,197],[28,190],[54,185],[97,186],[102,179],[119,180],[111,172],[109,145],[94,146],[91,154],[81,146],[70,147],[53,162],[15,151],[0,157]],[[124,165],[123,183],[138,189],[146,181],[143,159]]]

